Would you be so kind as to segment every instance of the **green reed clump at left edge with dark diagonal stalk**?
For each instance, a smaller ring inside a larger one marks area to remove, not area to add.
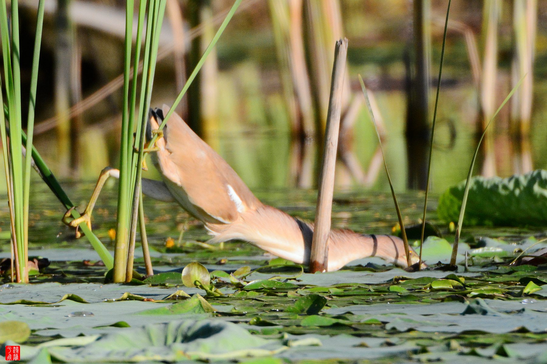
[[[36,168],[57,198],[66,208],[73,207],[72,201],[63,191],[59,182],[45,164],[44,160],[32,145],[32,132],[34,126],[34,111],[36,110],[36,89],[38,81],[38,67],[40,56],[40,45],[42,39],[42,28],[44,18],[44,0],[39,0],[37,11],[36,37],[34,39],[34,51],[31,70],[30,102],[28,110],[28,138],[22,131],[21,126],[21,107],[20,107],[20,76],[19,76],[19,31],[17,2],[12,2],[11,27],[13,28],[13,45],[10,46],[9,24],[7,20],[6,4],[2,1],[0,7],[0,31],[2,32],[2,51],[4,56],[4,76],[5,90],[7,96],[7,105],[4,105],[4,112],[0,118],[0,134],[3,142],[3,157],[5,161],[5,172],[8,186],[8,203],[10,206],[10,215],[12,222],[12,239],[15,242],[15,256],[17,279],[26,281],[26,261],[27,261],[27,242],[28,242],[28,206],[30,196],[30,175],[32,159]],[[13,64],[13,67],[11,65]],[[0,104],[3,105],[3,98],[0,94]],[[11,116],[11,117],[10,117]],[[9,130],[6,128],[6,122],[9,123]],[[26,145],[25,150],[31,150],[30,156],[22,164],[22,145]],[[22,199],[21,199],[22,195]],[[79,213],[72,211],[74,218],[79,217]],[[107,267],[112,267],[113,259],[108,250],[103,246],[100,240],[92,234],[88,226],[80,226],[88,237],[91,245],[95,248],[100,258]],[[24,235],[21,235],[21,232]]]

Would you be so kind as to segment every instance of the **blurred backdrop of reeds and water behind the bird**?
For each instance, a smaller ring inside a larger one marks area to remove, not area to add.
[[[37,1],[19,4],[26,90]],[[167,0],[152,105],[171,105],[231,4]],[[104,166],[118,166],[124,8],[121,0],[46,1],[34,145],[59,177],[92,181]],[[476,173],[546,168],[544,9],[547,0],[452,3],[433,192],[466,177],[485,121],[523,74]],[[243,0],[178,112],[252,189],[313,188],[334,41],[347,37],[337,188],[389,188],[359,73],[383,127],[395,188],[423,189],[445,15],[444,0]]]

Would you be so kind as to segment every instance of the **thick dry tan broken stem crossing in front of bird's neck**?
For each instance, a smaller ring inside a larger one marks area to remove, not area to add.
[[[347,39],[337,40],[334,49],[333,74],[330,84],[329,109],[327,112],[327,130],[323,150],[323,165],[319,191],[315,228],[311,244],[310,272],[325,272],[328,269],[330,214],[333,206],[334,169],[340,113],[342,110],[342,92],[344,91],[344,73],[346,71]]]

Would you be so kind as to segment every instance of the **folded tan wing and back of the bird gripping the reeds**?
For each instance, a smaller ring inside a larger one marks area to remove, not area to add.
[[[167,114],[168,106],[164,105],[163,109],[164,115]],[[205,222],[231,223],[240,212],[257,205],[257,198],[236,172],[177,114],[167,121],[164,138],[159,140],[158,147],[162,174],[174,185],[182,187],[182,199],[188,199],[195,207],[195,211],[190,212],[196,217]],[[180,194],[178,197],[182,202]]]

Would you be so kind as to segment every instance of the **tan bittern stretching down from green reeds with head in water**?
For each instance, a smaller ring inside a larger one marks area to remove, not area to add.
[[[163,121],[163,110],[150,110],[148,135]],[[289,216],[260,202],[236,172],[210,146],[197,136],[177,114],[167,120],[159,135],[152,160],[161,172],[162,181],[142,179],[143,194],[161,201],[181,205],[201,220],[213,236],[212,243],[242,240],[301,264],[310,259],[313,224]],[[71,226],[86,222],[98,193],[108,176],[119,171],[106,168],[82,218],[65,222]],[[68,216],[67,216],[68,217]],[[411,250],[412,263],[418,261]],[[339,270],[348,262],[378,256],[406,267],[403,241],[390,235],[362,235],[351,230],[331,230],[329,234],[328,271]]]

